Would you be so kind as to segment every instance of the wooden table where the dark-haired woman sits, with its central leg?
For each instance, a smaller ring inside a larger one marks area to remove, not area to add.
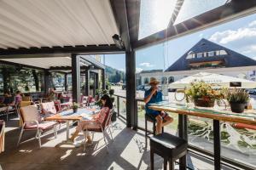
[[[84,117],[83,115],[93,115],[98,110],[90,108],[79,108],[76,113],[73,110],[61,111],[61,113],[55,114],[45,118],[45,121],[65,121],[67,123],[67,140],[69,139],[69,121],[80,121]]]

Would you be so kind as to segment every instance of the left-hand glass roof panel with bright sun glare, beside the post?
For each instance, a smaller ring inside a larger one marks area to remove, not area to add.
[[[139,39],[166,29],[177,0],[141,0]]]

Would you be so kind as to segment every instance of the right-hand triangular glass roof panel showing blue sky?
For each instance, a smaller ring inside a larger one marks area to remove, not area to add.
[[[203,14],[213,8],[218,8],[224,5],[227,0],[185,0],[182,8],[177,14],[177,19],[174,25],[183,22],[184,20],[189,20],[196,15]]]

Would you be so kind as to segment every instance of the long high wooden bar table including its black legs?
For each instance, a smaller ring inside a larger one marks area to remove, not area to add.
[[[244,113],[233,113],[230,109],[224,108],[207,109],[201,107],[187,107],[169,102],[160,102],[148,106],[149,109],[155,111],[168,111],[178,114],[178,135],[183,139],[188,139],[187,119],[188,116],[199,116],[213,120],[213,144],[214,144],[214,169],[219,170],[220,166],[220,130],[219,121],[224,122],[241,122],[256,126],[256,111],[246,110]],[[180,160],[180,169],[186,168],[186,159]]]

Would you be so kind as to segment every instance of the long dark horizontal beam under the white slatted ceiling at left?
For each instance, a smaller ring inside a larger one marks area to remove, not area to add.
[[[114,44],[108,45],[100,45],[100,46],[64,46],[61,47],[53,47],[53,48],[8,48],[8,49],[0,49],[0,59],[9,58],[8,55],[12,55],[13,58],[22,58],[22,54],[24,54],[24,58],[29,58],[28,54],[115,54],[115,53],[124,53],[125,49],[119,49]],[[47,55],[48,57],[51,57]],[[62,55],[61,55],[62,56]],[[37,56],[33,56],[36,58]],[[42,57],[42,56],[38,56]]]

